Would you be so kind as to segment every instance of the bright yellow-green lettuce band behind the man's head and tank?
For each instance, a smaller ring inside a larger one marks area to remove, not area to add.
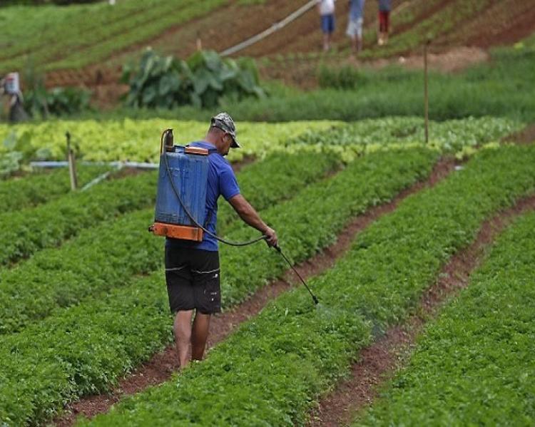
[[[209,125],[206,122],[151,120],[51,120],[38,124],[16,126],[0,124],[0,140],[16,133],[25,145],[34,150],[50,150],[49,160],[65,158],[65,133],[73,135],[78,147],[78,157],[84,160],[131,160],[158,162],[160,135],[166,128],[173,128],[175,144],[186,144],[205,137]],[[243,148],[231,150],[229,160],[240,160],[244,155],[262,157],[285,141],[296,138],[305,131],[320,131],[335,123],[327,121],[303,121],[295,123],[241,123],[237,122],[238,140]],[[1,148],[0,148],[1,150]]]

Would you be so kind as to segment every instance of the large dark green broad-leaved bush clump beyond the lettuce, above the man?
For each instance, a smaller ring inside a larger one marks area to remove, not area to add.
[[[213,108],[223,96],[235,101],[264,96],[252,60],[221,58],[215,51],[200,51],[183,61],[148,49],[136,73],[131,66],[123,68],[122,81],[130,84],[126,105],[136,108]]]

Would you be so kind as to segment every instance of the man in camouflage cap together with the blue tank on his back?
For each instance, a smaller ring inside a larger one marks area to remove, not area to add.
[[[162,135],[156,222],[149,230],[166,237],[165,282],[175,314],[180,369],[188,364],[190,347],[191,359],[203,358],[210,316],[221,311],[218,241],[242,246],[265,240],[270,247],[278,247],[275,230],[240,194],[233,169],[224,158],[230,148],[240,145],[227,113],[210,120],[204,140],[185,147],[173,145],[172,130]],[[235,243],[215,235],[220,195],[262,237]]]

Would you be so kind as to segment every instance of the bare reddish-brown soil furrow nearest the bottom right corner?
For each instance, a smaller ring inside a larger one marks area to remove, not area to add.
[[[476,240],[452,257],[442,267],[437,282],[427,289],[417,307],[417,314],[404,324],[393,326],[377,342],[360,352],[360,361],[352,366],[350,379],[322,398],[310,415],[309,426],[342,426],[350,423],[355,412],[372,403],[377,386],[391,378],[400,361],[414,346],[417,335],[449,297],[469,284],[470,274],[484,257],[496,235],[517,215],[535,210],[535,197],[518,202],[484,222]]]

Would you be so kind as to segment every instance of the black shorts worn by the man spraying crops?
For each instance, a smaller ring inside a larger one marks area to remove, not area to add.
[[[171,312],[221,311],[219,252],[166,246],[165,282]]]

